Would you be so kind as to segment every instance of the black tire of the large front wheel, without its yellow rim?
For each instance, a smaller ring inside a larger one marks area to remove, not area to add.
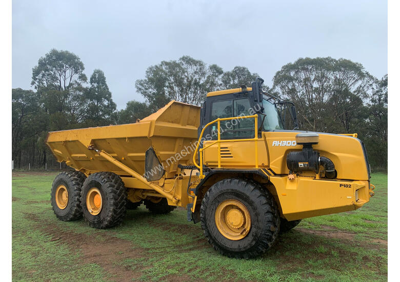
[[[225,200],[237,200],[251,218],[249,233],[231,240],[216,227],[215,211]],[[279,212],[268,190],[248,179],[228,178],[215,183],[205,194],[200,208],[204,235],[216,251],[228,257],[252,258],[267,251],[279,233]]]

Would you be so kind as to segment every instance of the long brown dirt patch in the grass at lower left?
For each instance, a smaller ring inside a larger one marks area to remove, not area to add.
[[[115,238],[105,232],[93,237],[60,230],[56,225],[48,224],[35,214],[27,213],[25,217],[37,223],[37,229],[51,236],[50,241],[67,244],[72,250],[81,250],[83,263],[101,266],[110,274],[109,280],[131,281],[133,278],[137,279],[142,276],[141,272],[135,272],[128,267],[116,264],[121,260],[144,256],[144,250],[133,246],[130,241]]]

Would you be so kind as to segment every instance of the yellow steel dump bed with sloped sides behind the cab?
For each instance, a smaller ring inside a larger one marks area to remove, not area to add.
[[[111,125],[49,132],[46,144],[58,162],[86,174],[111,171],[127,175],[102,156],[88,150],[92,145],[108,152],[139,174],[145,173],[146,151],[153,148],[166,177],[173,176],[177,165],[192,163],[193,144],[197,141],[200,107],[171,101],[165,107],[135,124]],[[186,150],[179,160],[176,154]]]

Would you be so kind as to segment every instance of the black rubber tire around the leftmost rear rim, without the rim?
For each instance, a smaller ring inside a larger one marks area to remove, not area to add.
[[[64,171],[59,173],[51,187],[51,206],[55,216],[63,221],[77,220],[82,217],[81,189],[85,174],[80,171]],[[59,186],[64,185],[68,191],[68,204],[64,209],[57,206],[55,193]]]

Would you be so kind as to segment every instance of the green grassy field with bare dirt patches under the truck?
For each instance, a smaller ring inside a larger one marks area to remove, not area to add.
[[[387,280],[387,174],[372,175],[375,196],[361,209],[304,219],[251,260],[216,253],[184,209],[152,215],[141,206],[108,230],[57,220],[50,205],[55,175],[12,175],[13,280]]]

